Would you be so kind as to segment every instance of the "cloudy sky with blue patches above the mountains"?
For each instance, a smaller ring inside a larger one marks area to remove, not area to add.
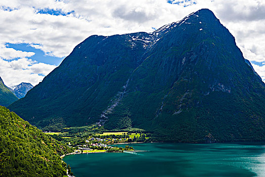
[[[151,32],[208,8],[265,81],[264,0],[1,0],[0,76],[36,85],[93,34]]]

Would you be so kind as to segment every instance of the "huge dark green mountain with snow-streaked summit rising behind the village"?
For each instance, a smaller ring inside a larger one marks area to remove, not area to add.
[[[153,33],[90,36],[10,109],[41,128],[101,122],[163,141],[260,141],[264,103],[235,38],[202,9]]]

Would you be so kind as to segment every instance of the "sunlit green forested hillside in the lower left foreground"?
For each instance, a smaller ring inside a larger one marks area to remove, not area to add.
[[[67,150],[49,135],[0,106],[0,176],[64,176]]]

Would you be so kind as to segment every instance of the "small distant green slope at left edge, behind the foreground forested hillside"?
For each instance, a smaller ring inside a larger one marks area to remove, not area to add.
[[[17,100],[18,98],[9,90],[0,77],[0,105],[8,106]]]

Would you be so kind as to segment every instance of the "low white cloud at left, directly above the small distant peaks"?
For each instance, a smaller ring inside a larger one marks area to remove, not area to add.
[[[54,68],[55,65],[36,63],[26,58],[13,61],[0,59],[0,76],[7,86],[17,85],[22,81],[36,85],[42,81],[43,75],[47,75]]]

